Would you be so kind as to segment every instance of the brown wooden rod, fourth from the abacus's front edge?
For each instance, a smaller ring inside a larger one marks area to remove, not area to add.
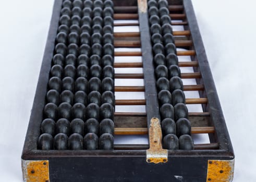
[[[187,98],[186,104],[205,104],[208,102],[207,98]],[[145,99],[120,99],[116,100],[117,106],[130,106],[130,105],[146,105]]]

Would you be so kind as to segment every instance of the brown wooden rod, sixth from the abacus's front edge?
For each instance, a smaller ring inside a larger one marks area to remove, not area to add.
[[[143,79],[143,73],[116,73],[115,79]],[[196,73],[181,73],[181,79],[200,79],[201,74]]]

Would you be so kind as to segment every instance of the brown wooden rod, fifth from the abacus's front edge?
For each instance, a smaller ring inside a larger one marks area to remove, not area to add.
[[[184,91],[203,90],[203,85],[184,85]],[[144,86],[115,86],[115,92],[144,92]]]

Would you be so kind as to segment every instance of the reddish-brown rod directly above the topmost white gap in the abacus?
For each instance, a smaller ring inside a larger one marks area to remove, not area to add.
[[[186,18],[185,14],[169,14],[173,20]],[[114,20],[138,20],[138,14],[114,14]]]

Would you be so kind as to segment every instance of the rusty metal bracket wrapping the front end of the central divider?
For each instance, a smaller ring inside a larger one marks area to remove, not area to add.
[[[149,144],[147,150],[148,163],[160,163],[168,161],[168,152],[162,147],[162,129],[158,118],[152,118],[149,128]]]

